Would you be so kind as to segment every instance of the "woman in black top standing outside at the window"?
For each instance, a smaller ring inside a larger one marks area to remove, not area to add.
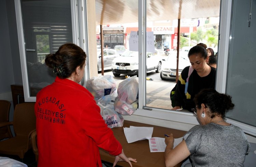
[[[193,98],[205,88],[215,88],[216,69],[207,64],[209,57],[205,47],[197,45],[188,52],[191,66],[187,66],[181,72],[174,94],[173,110],[186,109],[190,112],[195,108]],[[191,75],[188,78],[189,72]],[[187,81],[188,78],[188,81]],[[185,89],[187,88],[187,90]]]

